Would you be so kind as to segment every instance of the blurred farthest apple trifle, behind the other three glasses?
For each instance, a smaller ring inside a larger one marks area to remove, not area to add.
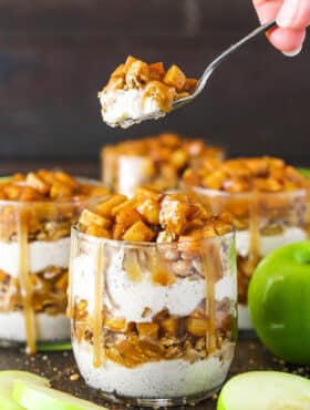
[[[162,133],[124,141],[102,148],[102,181],[114,191],[132,196],[138,186],[165,191],[178,187],[185,168],[223,161],[225,152],[199,139]]]

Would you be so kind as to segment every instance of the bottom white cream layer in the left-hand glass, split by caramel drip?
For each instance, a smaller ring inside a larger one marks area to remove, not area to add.
[[[35,336],[38,341],[70,339],[70,320],[65,315],[35,315]],[[0,314],[0,339],[27,341],[24,315],[22,311]]]

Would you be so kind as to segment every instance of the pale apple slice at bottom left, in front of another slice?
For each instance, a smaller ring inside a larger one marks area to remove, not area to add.
[[[29,410],[107,410],[104,407],[24,380],[13,383],[13,399]]]

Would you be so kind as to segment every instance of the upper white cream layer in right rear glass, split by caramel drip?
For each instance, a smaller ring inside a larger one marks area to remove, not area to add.
[[[299,227],[288,227],[279,235],[259,236],[259,255],[266,256],[282,246],[307,239],[307,233]],[[236,249],[240,256],[250,252],[250,232],[248,229],[236,232]]]

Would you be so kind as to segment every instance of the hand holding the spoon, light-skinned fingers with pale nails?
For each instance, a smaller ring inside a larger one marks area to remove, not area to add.
[[[310,0],[252,0],[261,23],[277,20],[267,37],[286,55],[297,55],[310,25]]]

